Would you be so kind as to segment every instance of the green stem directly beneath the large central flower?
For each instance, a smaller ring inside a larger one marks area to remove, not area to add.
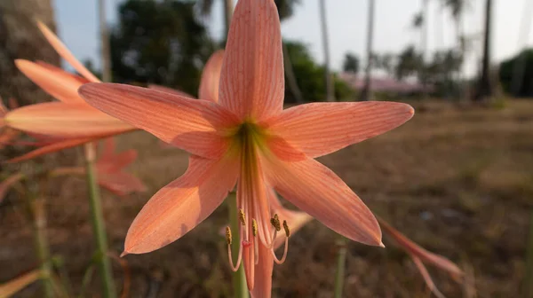
[[[234,240],[231,244],[231,252],[234,260],[237,259],[239,254],[239,246],[241,245],[241,239],[239,235],[239,216],[237,213],[237,196],[235,192],[231,192],[227,196],[227,206],[229,209],[229,223],[231,231],[234,231]],[[233,286],[236,298],[248,298],[248,286],[246,286],[246,275],[244,274],[244,267],[241,265],[239,270],[233,274]]]

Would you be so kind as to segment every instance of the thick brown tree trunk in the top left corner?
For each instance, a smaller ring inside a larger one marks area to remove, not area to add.
[[[43,60],[58,66],[60,58],[35,20],[55,31],[52,0],[0,0],[0,96],[16,98],[21,106],[50,99],[15,67],[15,59]]]

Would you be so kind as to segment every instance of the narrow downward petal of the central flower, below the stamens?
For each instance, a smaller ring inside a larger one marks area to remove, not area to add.
[[[259,263],[255,268],[254,286],[250,291],[251,298],[270,298],[272,295],[272,271],[274,269],[274,257],[270,249],[259,243]]]

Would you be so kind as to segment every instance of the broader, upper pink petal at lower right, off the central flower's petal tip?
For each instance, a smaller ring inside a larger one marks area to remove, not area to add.
[[[405,249],[410,255],[417,257],[424,262],[431,263],[443,271],[447,271],[453,277],[457,278],[463,275],[463,271],[461,271],[455,263],[441,255],[435,255],[434,253],[427,251],[424,247],[418,246],[418,244],[405,237],[405,235],[394,229],[393,226],[386,223],[383,219],[378,218],[378,220],[383,231],[391,236],[396,243],[398,243],[398,245]]]

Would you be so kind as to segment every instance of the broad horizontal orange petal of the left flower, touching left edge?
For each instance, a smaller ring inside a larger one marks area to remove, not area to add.
[[[60,102],[22,106],[5,115],[6,125],[49,137],[94,137],[134,130],[87,105]]]

